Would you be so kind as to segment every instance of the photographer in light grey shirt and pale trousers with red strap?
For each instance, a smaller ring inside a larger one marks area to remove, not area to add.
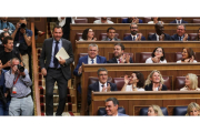
[[[33,102],[30,89],[32,81],[28,70],[19,64],[19,59],[13,58],[10,70],[4,74],[6,88],[10,89],[11,93],[9,115],[32,115]]]

